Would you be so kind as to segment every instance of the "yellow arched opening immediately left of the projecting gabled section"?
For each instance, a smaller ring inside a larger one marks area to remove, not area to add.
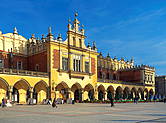
[[[48,85],[45,81],[39,81],[35,84],[33,90],[33,98],[36,99],[36,103],[41,103],[44,99],[47,99]]]

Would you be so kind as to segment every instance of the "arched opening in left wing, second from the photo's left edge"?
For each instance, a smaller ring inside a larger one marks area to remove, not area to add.
[[[26,103],[27,99],[30,97],[29,93],[30,84],[21,79],[17,81],[13,86],[13,101],[18,103]]]

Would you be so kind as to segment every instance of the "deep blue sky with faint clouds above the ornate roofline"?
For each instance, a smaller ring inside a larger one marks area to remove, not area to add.
[[[0,30],[29,38],[47,34],[49,26],[66,37],[68,18],[85,26],[86,43],[96,41],[98,51],[111,57],[134,57],[135,64],[156,68],[166,75],[165,0],[1,0]]]

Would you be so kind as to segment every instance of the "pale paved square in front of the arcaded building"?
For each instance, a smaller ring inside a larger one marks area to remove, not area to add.
[[[166,123],[164,103],[16,105],[0,108],[0,123]]]

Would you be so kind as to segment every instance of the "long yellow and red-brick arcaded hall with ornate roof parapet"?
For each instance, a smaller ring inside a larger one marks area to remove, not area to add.
[[[96,44],[85,45],[83,27],[75,16],[68,23],[67,39],[47,36],[30,39],[0,31],[0,102],[8,98],[27,103],[29,98],[84,100],[148,99],[155,93],[155,69],[135,66],[97,52]]]

